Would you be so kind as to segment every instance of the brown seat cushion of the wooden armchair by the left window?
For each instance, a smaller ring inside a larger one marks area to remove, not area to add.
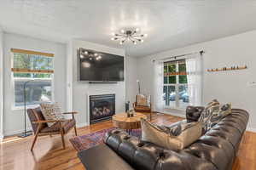
[[[67,120],[65,122],[61,122],[61,125],[63,127],[64,133],[67,133],[69,129],[74,127],[76,124],[74,119]],[[55,122],[51,127],[44,127],[41,130],[41,133],[54,133],[60,131],[60,124],[59,122]]]

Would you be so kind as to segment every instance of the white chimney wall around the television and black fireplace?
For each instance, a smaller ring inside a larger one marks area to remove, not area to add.
[[[80,40],[73,40],[68,43],[67,51],[73,51],[67,55],[67,98],[72,95],[73,111],[79,111],[79,114],[76,116],[78,126],[85,126],[89,124],[88,120],[88,95],[93,94],[116,94],[116,113],[125,111],[125,82],[118,82],[117,84],[89,84],[87,82],[78,81],[78,48],[87,48],[91,50],[101,51],[109,54],[118,54],[125,55],[123,49],[109,48],[96,43],[84,42]],[[70,65],[73,65],[72,67]],[[126,78],[126,77],[125,77]],[[72,82],[71,82],[72,81]]]

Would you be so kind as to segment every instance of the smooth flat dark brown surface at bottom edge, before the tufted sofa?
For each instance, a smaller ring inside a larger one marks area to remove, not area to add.
[[[106,144],[100,144],[88,150],[81,150],[78,156],[86,170],[133,170],[126,161],[119,157]]]

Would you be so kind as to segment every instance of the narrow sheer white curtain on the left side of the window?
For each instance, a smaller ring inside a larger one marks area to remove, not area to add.
[[[163,111],[164,62],[154,61],[154,110]]]

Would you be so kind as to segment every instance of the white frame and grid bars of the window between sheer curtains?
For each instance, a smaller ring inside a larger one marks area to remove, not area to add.
[[[175,71],[176,72],[179,72],[179,68],[178,68],[178,64],[179,64],[179,61],[180,61],[180,59],[179,60],[173,60],[173,61],[170,61],[170,62],[173,62],[173,65],[174,65],[174,63],[175,63],[175,65],[176,65],[176,68],[175,68]],[[166,62],[168,62],[168,61],[166,61]],[[184,59],[184,62],[185,62],[185,59]],[[164,64],[164,69],[165,69],[165,64]],[[168,69],[168,66],[167,66],[167,69]],[[167,71],[168,72],[168,71]],[[168,83],[165,83],[165,81],[163,82],[163,88],[166,86],[166,87],[170,87],[170,86],[174,86],[175,87],[175,106],[173,107],[173,106],[171,106],[171,105],[166,105],[166,102],[164,102],[165,103],[165,105],[164,105],[164,108],[165,109],[175,109],[175,110],[181,110],[181,111],[184,111],[184,108],[182,108],[182,107],[180,107],[180,105],[179,105],[179,96],[178,96],[178,94],[179,94],[179,87],[180,86],[187,86],[188,87],[188,82],[187,83],[179,83],[179,80],[178,80],[178,77],[179,76],[182,76],[182,75],[173,75],[173,77],[176,77],[176,83],[169,83],[169,81],[168,81]],[[164,77],[165,77],[165,74],[164,74]],[[164,78],[163,77],[163,78]],[[188,79],[187,79],[188,80]],[[167,88],[167,90],[168,90],[168,88]],[[164,93],[163,93],[164,94]],[[165,100],[164,100],[165,101]],[[169,103],[170,104],[170,103]]]

